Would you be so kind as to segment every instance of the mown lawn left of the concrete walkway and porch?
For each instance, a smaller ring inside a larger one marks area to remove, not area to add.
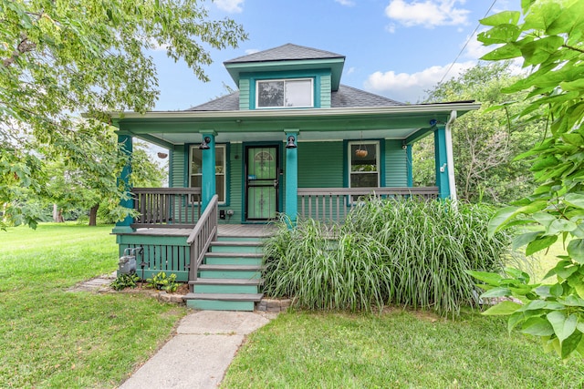
[[[68,292],[117,268],[112,226],[0,231],[0,387],[114,387],[185,310],[138,294]]]

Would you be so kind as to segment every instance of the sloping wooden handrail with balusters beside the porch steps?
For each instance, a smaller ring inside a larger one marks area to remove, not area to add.
[[[189,269],[189,283],[197,280],[199,266],[203,262],[204,254],[209,250],[211,242],[217,239],[217,224],[219,220],[219,197],[213,199],[203,211],[203,215],[194,226],[187,244],[191,246],[191,265]],[[193,292],[192,287],[191,292]]]

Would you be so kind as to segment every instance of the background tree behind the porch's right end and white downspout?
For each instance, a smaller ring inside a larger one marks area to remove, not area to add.
[[[516,161],[513,156],[535,144],[542,124],[517,122],[514,128],[507,127],[506,118],[519,112],[525,103],[507,105],[506,110],[491,109],[508,99],[525,100],[525,92],[514,96],[501,94],[501,89],[516,79],[508,63],[480,63],[429,91],[427,102],[475,99],[482,105],[454,123],[454,171],[461,199],[502,203],[534,188],[527,162]],[[413,159],[414,182],[432,185],[435,180],[432,138],[416,145]]]

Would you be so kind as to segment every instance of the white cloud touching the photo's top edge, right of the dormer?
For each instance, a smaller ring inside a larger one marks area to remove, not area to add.
[[[468,23],[469,10],[456,8],[464,0],[425,0],[406,2],[391,0],[385,8],[385,15],[403,26],[459,26]]]

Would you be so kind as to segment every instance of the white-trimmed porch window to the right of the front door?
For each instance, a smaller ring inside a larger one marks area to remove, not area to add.
[[[349,142],[349,188],[379,188],[380,142]]]

